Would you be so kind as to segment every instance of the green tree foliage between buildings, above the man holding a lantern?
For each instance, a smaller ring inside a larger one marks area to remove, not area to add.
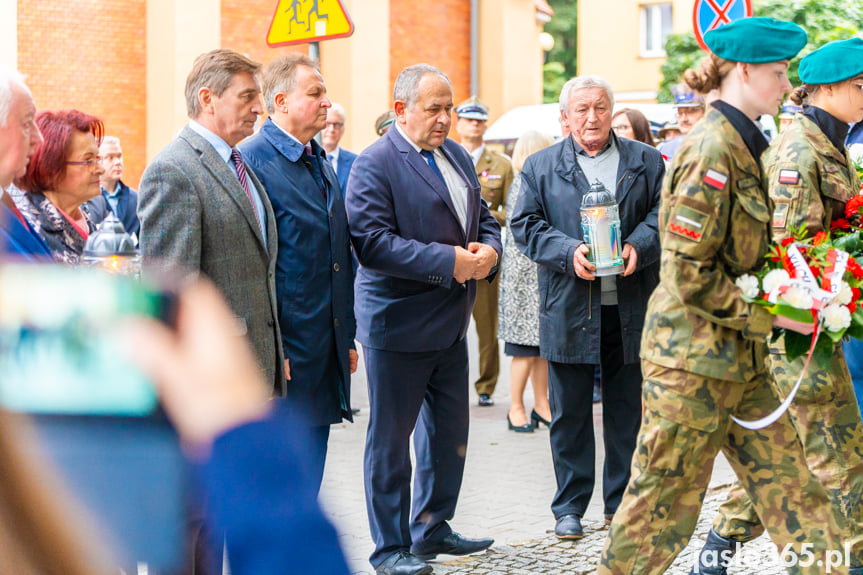
[[[546,54],[542,68],[543,102],[556,102],[567,80],[577,75],[578,4],[575,0],[548,0],[554,10],[544,27],[554,38],[554,48]]]

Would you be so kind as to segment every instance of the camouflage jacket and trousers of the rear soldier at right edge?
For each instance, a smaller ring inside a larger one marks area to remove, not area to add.
[[[840,152],[810,118],[796,114],[792,123],[762,157],[765,180],[774,202],[773,239],[806,225],[809,235],[830,229],[845,217],[845,203],[860,189],[847,151]],[[771,345],[770,368],[782,398],[797,382],[805,358],[788,362],[782,342]],[[828,370],[809,364],[805,379],[788,410],[803,442],[809,469],[827,489],[848,520],[846,540],[856,557],[863,537],[863,422],[842,346],[836,345]],[[720,508],[713,530],[735,541],[763,533],[758,515],[738,483]]]

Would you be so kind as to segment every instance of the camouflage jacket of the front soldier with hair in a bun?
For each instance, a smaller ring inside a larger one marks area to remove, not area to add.
[[[660,285],[641,342],[652,363],[716,379],[764,371],[773,317],[734,281],[763,263],[770,201],[758,162],[716,109],[693,128],[666,174],[659,208]]]

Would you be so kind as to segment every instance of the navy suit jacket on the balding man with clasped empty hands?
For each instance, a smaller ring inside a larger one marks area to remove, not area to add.
[[[480,195],[473,161],[446,140],[442,151],[467,184],[467,230],[449,191],[398,130],[357,157],[348,180],[357,274],[357,339],[396,352],[438,351],[467,333],[476,281],[452,277],[453,246],[480,242],[501,253],[500,225]],[[493,268],[488,281],[494,279]]]

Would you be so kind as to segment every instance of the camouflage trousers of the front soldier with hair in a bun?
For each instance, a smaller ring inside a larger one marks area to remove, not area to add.
[[[689,542],[721,449],[774,543],[818,556],[842,549],[842,516],[809,472],[787,415],[749,431],[779,405],[767,373],[747,383],[642,362],[644,419],[632,476],[609,528],[597,573],[661,574]],[[806,547],[803,547],[803,544]],[[815,574],[813,563],[791,573]],[[835,572],[843,572],[837,570]]]

